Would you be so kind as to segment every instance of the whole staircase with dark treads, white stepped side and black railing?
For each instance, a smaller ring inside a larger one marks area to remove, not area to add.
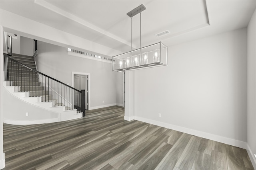
[[[38,72],[32,56],[4,54],[4,64],[4,87],[17,98],[59,113],[58,121],[85,115],[81,106],[81,92]]]

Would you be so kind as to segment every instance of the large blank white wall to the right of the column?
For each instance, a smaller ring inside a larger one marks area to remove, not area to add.
[[[136,70],[134,116],[245,148],[246,28],[168,47],[168,66]]]

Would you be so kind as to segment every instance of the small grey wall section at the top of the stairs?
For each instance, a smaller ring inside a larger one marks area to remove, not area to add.
[[[29,56],[34,54],[34,39],[20,36],[20,54]]]

